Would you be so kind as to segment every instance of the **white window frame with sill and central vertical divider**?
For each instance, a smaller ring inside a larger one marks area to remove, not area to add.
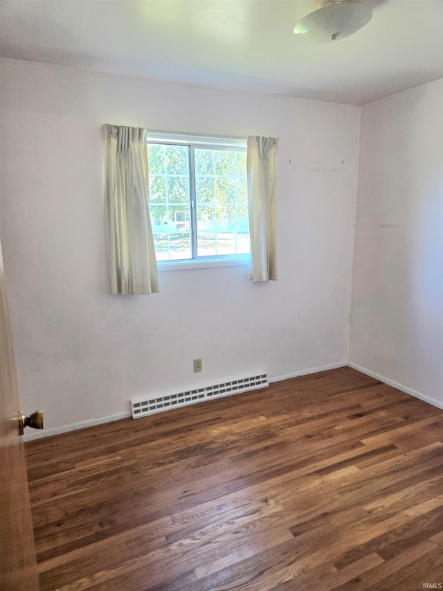
[[[238,150],[246,152],[246,137],[210,136],[204,134],[186,134],[148,131],[147,144],[184,145],[188,148],[189,189],[190,189],[190,238],[192,258],[174,259],[171,261],[157,260],[159,271],[174,271],[208,267],[226,267],[233,265],[248,265],[251,250],[242,254],[197,255],[197,208],[195,188],[195,155],[196,149]],[[148,161],[149,167],[149,161]]]

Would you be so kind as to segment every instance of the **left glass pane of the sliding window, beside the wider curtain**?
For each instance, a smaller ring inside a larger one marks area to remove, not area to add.
[[[147,145],[149,202],[157,261],[192,258],[189,148]]]

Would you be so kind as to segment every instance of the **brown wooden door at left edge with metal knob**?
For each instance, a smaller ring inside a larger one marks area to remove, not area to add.
[[[38,591],[20,409],[0,244],[0,589]]]

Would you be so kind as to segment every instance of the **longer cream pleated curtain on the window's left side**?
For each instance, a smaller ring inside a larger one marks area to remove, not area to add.
[[[105,242],[111,294],[152,294],[159,274],[147,202],[146,130],[103,125]]]

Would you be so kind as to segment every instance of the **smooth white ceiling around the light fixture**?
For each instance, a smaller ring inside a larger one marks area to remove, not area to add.
[[[309,44],[320,0],[0,0],[0,55],[362,105],[443,77],[443,0],[365,0],[370,23]]]

